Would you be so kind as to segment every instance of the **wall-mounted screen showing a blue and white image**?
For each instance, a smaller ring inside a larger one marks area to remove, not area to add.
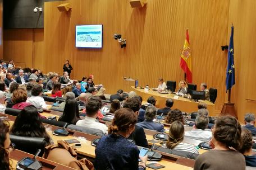
[[[77,25],[76,47],[102,48],[102,25]]]

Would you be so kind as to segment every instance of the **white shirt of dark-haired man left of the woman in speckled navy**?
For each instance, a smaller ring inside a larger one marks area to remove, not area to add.
[[[104,134],[108,133],[108,127],[100,122],[97,122],[93,117],[85,116],[85,119],[77,121],[76,125],[86,128],[99,129],[102,130]]]

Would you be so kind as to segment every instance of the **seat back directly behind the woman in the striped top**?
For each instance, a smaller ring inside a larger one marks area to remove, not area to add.
[[[154,150],[158,150],[158,151],[161,151],[161,152],[165,152],[165,153],[169,153],[169,154],[173,154],[173,155],[177,155],[177,156],[184,157],[184,158],[189,158],[189,159],[195,159],[199,155],[199,154],[186,152],[186,151],[162,148],[162,147],[159,147],[159,146],[155,146]]]

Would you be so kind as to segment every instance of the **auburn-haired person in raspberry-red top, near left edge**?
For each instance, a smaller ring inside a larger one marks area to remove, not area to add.
[[[27,103],[27,93],[24,88],[18,88],[12,93],[12,108],[22,110],[31,103]]]

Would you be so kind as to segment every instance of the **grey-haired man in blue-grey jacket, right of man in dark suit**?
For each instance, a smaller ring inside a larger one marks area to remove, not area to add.
[[[156,130],[163,133],[164,132],[163,125],[153,122],[156,115],[157,115],[157,108],[154,107],[153,105],[149,105],[145,110],[145,120],[143,122],[139,122],[136,125],[144,129]]]

